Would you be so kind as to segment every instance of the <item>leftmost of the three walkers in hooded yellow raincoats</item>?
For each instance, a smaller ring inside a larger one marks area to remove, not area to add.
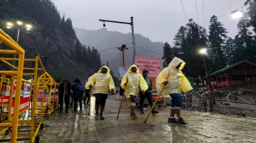
[[[90,76],[87,83],[85,84],[85,88],[91,89],[92,95],[96,98],[95,119],[104,120],[105,118],[103,117],[103,111],[107,100],[107,94],[109,92],[109,89],[112,94],[114,94],[115,91],[114,81],[112,79],[112,76],[110,75],[110,68],[107,66],[103,66],[102,68],[100,68],[97,73]]]

